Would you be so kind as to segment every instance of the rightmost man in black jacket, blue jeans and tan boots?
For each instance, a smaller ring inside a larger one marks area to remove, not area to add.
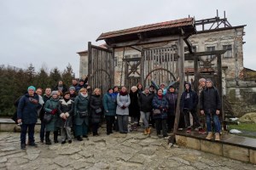
[[[220,96],[218,89],[213,87],[212,80],[207,79],[207,88],[201,92],[200,97],[200,111],[202,115],[206,115],[207,118],[207,138],[212,139],[212,121],[215,127],[215,140],[219,140],[220,122],[218,115],[221,109]]]

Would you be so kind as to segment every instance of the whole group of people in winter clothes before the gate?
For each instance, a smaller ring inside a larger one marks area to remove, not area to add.
[[[40,140],[45,144],[52,144],[49,134],[54,134],[54,142],[58,143],[58,134],[61,132],[61,144],[72,143],[74,137],[82,141],[88,138],[89,131],[93,136],[98,136],[98,128],[103,117],[107,124],[107,134],[113,133],[113,127],[117,122],[119,133],[137,131],[140,119],[143,120],[143,133],[150,134],[151,127],[155,127],[160,138],[166,138],[167,133],[172,132],[177,108],[177,89],[172,82],[168,87],[164,83],[160,87],[152,83],[150,87],[143,89],[142,84],[132,86],[130,91],[122,87],[108,88],[106,94],[101,89],[95,88],[91,92],[87,78],[79,82],[73,79],[72,86],[67,88],[62,81],[52,88],[43,89],[30,86],[27,93],[19,100],[17,109],[17,122],[20,123],[20,147],[26,149],[26,131],[28,129],[28,144],[37,146],[34,140],[34,127],[41,119]],[[203,133],[201,122],[197,115],[197,105],[200,104],[201,115],[206,115],[207,139],[212,139],[212,122],[215,125],[215,139],[219,140],[220,122],[220,98],[218,90],[213,87],[209,79],[200,79],[200,99],[198,94],[191,89],[189,82],[184,82],[184,92],[180,100],[180,127],[185,127],[190,133],[189,113],[193,116],[194,127]],[[44,115],[50,115],[49,122],[44,122]],[[128,120],[131,117],[131,127],[128,129]],[[117,117],[117,121],[116,121]]]

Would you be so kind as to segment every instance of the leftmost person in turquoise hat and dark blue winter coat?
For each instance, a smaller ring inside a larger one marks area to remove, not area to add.
[[[29,145],[38,146],[34,139],[34,129],[38,122],[39,104],[38,94],[35,93],[36,88],[30,86],[27,88],[27,94],[23,95],[19,100],[17,110],[17,122],[21,124],[20,131],[20,149],[26,150],[26,130],[28,129]]]

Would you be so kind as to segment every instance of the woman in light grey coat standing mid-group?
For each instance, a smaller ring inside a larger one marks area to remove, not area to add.
[[[119,123],[119,133],[128,133],[128,106],[131,104],[130,96],[125,87],[122,87],[117,96],[116,114]]]

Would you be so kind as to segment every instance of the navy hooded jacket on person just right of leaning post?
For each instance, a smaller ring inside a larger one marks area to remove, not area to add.
[[[185,83],[188,84],[188,83]],[[198,95],[194,90],[191,89],[191,85],[189,84],[189,90],[183,92],[180,99],[180,111],[183,109],[188,109],[189,111],[196,110],[196,106],[198,104]]]

